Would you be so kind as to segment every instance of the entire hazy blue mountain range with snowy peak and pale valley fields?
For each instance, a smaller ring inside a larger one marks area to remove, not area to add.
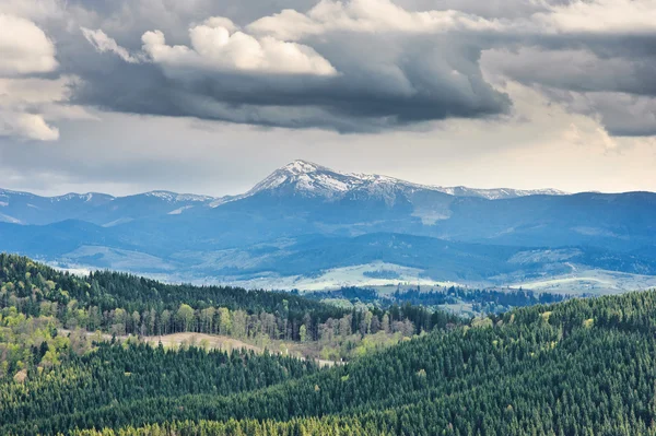
[[[368,283],[380,268],[476,285],[656,285],[652,192],[441,188],[295,161],[224,198],[0,195],[0,250],[72,268],[284,288]]]

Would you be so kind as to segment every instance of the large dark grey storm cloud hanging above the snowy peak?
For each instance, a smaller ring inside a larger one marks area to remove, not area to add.
[[[153,63],[132,64],[87,52],[87,62],[71,69],[84,78],[73,102],[134,114],[344,132],[509,109],[509,98],[483,80],[476,47],[419,37],[402,43],[349,39],[344,35],[315,46],[339,71],[333,76],[173,73]],[[380,46],[387,51],[376,52]],[[397,54],[390,58],[391,50]],[[364,61],[363,52],[371,54]]]

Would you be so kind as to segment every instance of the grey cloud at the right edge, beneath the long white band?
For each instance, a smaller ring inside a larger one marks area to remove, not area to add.
[[[599,119],[614,135],[656,134],[656,59],[608,44],[588,48],[520,47],[485,52],[493,76],[539,89],[573,113]]]

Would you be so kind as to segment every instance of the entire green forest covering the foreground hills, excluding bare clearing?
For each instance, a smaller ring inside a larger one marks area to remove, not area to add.
[[[2,435],[656,435],[656,291],[462,319],[0,269]],[[191,331],[361,352],[320,366],[141,340]],[[363,345],[380,335],[399,339]]]

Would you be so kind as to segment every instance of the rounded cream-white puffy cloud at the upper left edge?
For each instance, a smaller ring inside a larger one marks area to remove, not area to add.
[[[50,72],[55,45],[32,21],[0,13],[0,76]]]

